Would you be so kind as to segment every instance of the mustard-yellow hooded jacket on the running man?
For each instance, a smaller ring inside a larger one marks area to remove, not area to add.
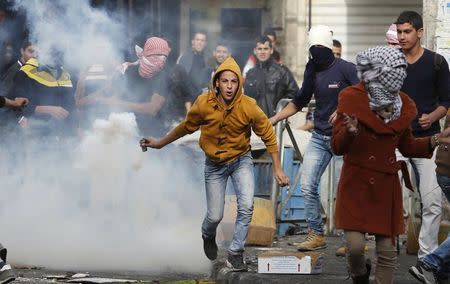
[[[239,78],[237,93],[230,105],[224,106],[214,89],[217,75],[225,70]],[[216,164],[232,162],[250,150],[251,130],[261,137],[269,153],[278,152],[275,132],[256,101],[243,94],[241,70],[232,57],[227,58],[212,77],[210,90],[200,95],[175,133],[193,133],[199,128],[200,147]]]

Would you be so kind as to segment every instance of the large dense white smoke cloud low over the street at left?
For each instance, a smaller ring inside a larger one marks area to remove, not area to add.
[[[198,161],[142,153],[133,114],[97,120],[81,143],[26,141],[0,155],[1,242],[12,263],[208,273]],[[79,145],[79,146],[78,146]]]

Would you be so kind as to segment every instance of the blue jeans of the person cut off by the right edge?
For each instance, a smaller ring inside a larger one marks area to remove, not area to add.
[[[447,200],[450,201],[450,177],[436,174],[437,181]],[[432,253],[422,257],[420,261],[442,278],[450,277],[450,236]]]

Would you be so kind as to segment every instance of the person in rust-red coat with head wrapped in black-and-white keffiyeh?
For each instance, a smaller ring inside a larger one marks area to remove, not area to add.
[[[342,90],[331,147],[344,155],[336,199],[336,227],[344,229],[354,283],[369,283],[370,260],[364,256],[364,233],[376,237],[375,283],[393,283],[397,264],[395,236],[403,233],[402,189],[398,171],[411,188],[405,157],[432,156],[440,135],[415,138],[410,128],[417,115],[414,102],[400,92],[406,77],[401,51],[375,47],[360,52],[361,82]]]

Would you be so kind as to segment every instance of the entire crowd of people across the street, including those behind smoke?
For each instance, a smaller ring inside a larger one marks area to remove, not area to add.
[[[364,255],[364,235],[369,233],[376,237],[375,282],[393,283],[395,237],[404,231],[400,177],[412,189],[409,162],[422,200],[418,263],[410,272],[423,283],[439,283],[449,277],[450,267],[449,239],[441,246],[437,240],[442,192],[449,198],[450,74],[445,58],[421,46],[423,32],[421,16],[405,11],[390,26],[387,45],[361,51],[355,65],[340,58],[342,45],[330,27],[313,26],[300,88],[281,63],[273,29],[255,40],[242,73],[225,41],[216,43],[207,60],[204,31],[193,33],[190,48],[175,64],[167,60],[174,56],[170,41],[149,36],[143,47],[136,46],[135,61],[115,62],[99,48],[92,64],[76,76],[64,67],[60,46],[52,46],[50,56],[40,62],[39,42],[24,41],[20,57],[1,74],[0,106],[11,109],[1,113],[1,136],[19,132],[41,143],[82,136],[95,119],[121,111],[134,113],[140,133],[148,136],[140,141],[143,149],[162,148],[200,129],[206,156],[205,254],[217,258],[216,229],[230,177],[238,208],[227,264],[245,271],[254,194],[250,131],[266,144],[276,182],[287,185],[272,126],[314,98],[314,111],[303,128],[312,137],[301,166],[309,231],[298,250],[327,246],[319,182],[335,159],[341,172],[336,227],[345,234],[351,278],[369,283],[372,265]],[[284,98],[291,101],[276,112]],[[439,120],[446,114],[447,128],[441,131]],[[172,129],[174,123],[178,125]],[[14,277],[1,252],[0,280],[10,281]]]

